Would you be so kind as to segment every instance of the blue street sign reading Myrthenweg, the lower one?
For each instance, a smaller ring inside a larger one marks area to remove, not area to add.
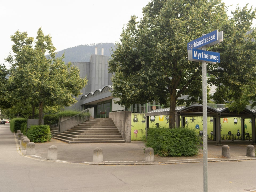
[[[218,52],[192,49],[192,61],[208,61],[209,63],[220,63],[221,56]]]

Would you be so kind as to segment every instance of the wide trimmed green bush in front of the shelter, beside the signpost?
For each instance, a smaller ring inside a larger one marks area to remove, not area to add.
[[[159,156],[193,156],[200,148],[194,130],[189,128],[151,128],[147,132],[146,147],[154,149]]]

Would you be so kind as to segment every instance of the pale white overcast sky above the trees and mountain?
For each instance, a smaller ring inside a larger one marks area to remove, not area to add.
[[[115,43],[119,41],[122,27],[131,15],[142,17],[142,7],[151,0],[9,0],[0,2],[1,35],[0,63],[11,52],[10,36],[17,30],[27,31],[36,38],[42,27],[50,34],[57,51],[78,45]],[[255,0],[223,0],[226,5],[249,3]],[[254,22],[256,24],[256,22]],[[6,63],[7,64],[7,63]],[[8,66],[7,66],[8,67]]]

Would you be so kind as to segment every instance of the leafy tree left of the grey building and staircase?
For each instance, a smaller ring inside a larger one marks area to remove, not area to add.
[[[76,102],[74,96],[81,94],[87,79],[80,77],[77,67],[65,64],[64,55],[55,58],[56,48],[50,35],[44,35],[39,28],[36,40],[20,31],[15,32],[11,40],[14,55],[6,58],[11,64],[11,73],[1,95],[14,111],[26,109],[25,113],[32,118],[38,111],[39,124],[42,124],[43,109],[58,111]],[[6,107],[1,105],[1,108]]]

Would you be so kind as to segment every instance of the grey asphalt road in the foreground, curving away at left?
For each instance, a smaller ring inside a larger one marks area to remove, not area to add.
[[[256,160],[208,163],[208,191],[256,191]],[[9,125],[0,125],[1,192],[198,192],[203,163],[88,165],[23,156]]]

